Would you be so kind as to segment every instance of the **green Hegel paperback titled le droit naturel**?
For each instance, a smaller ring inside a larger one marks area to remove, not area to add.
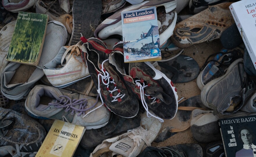
[[[47,22],[47,14],[19,12],[6,60],[38,65]]]

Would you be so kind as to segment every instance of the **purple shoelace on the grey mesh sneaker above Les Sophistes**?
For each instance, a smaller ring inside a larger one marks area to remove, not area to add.
[[[61,98],[63,97],[63,98]],[[71,114],[77,113],[79,112],[79,114],[77,116],[81,116],[81,114],[85,115],[85,112],[89,109],[92,109],[99,100],[99,95],[97,96],[97,101],[91,106],[91,107],[87,107],[87,99],[86,98],[81,98],[79,100],[77,99],[73,99],[71,100],[71,98],[69,98],[68,96],[62,95],[59,96],[59,98],[61,98],[60,102],[55,102],[55,103],[49,103],[48,105],[53,105],[56,108],[65,108],[65,111],[69,111],[70,109],[72,109]],[[75,105],[79,105],[79,109],[75,108]]]

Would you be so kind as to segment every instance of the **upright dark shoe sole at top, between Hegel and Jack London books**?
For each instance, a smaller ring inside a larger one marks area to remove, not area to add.
[[[93,16],[91,16],[91,12],[88,10],[94,10]],[[72,12],[73,12],[74,25],[73,25],[71,39],[68,45],[75,45],[79,41],[81,41],[80,40],[81,33],[86,38],[94,37],[93,35],[94,31],[92,27],[98,26],[99,24],[101,12],[102,12],[102,1],[101,0],[90,0],[90,1],[74,0]]]

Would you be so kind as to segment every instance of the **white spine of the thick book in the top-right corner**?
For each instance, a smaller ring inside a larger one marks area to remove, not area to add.
[[[231,4],[229,8],[231,8],[230,11],[231,11],[232,16],[234,18],[234,21],[235,21],[235,23],[237,25],[237,28],[239,29],[239,31],[241,29],[241,37],[243,39],[243,42],[244,42],[244,44],[246,46],[246,49],[247,49],[247,51],[248,51],[248,53],[249,53],[249,55],[251,57],[251,60],[252,60],[253,65],[254,65],[254,68],[256,70],[256,56],[255,56],[256,54],[253,52],[253,49],[252,49],[252,47],[250,45],[250,42],[248,41],[248,38],[246,36],[246,31],[244,31],[242,23],[240,23],[239,18],[237,17],[237,13],[235,11],[234,6]]]

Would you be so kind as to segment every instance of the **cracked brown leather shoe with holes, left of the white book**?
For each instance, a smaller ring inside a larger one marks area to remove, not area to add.
[[[234,23],[229,10],[231,3],[209,6],[208,9],[176,24],[171,36],[179,48],[220,38],[222,32]]]

